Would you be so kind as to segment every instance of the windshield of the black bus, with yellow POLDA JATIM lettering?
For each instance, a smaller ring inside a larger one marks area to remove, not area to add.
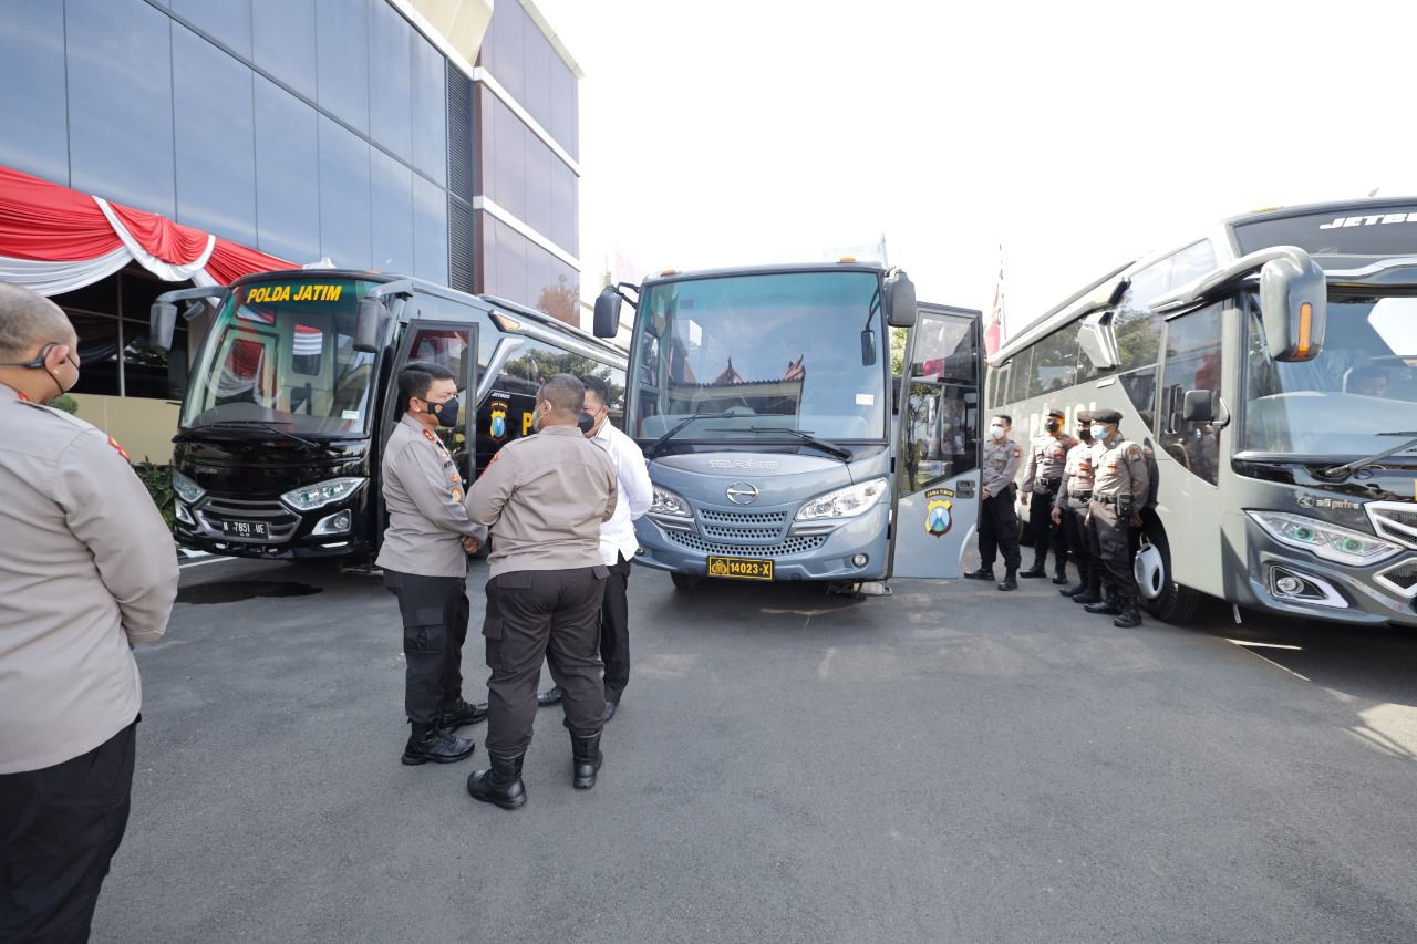
[[[374,356],[354,350],[354,279],[242,285],[217,312],[183,403],[183,428],[273,424],[361,435]]]

